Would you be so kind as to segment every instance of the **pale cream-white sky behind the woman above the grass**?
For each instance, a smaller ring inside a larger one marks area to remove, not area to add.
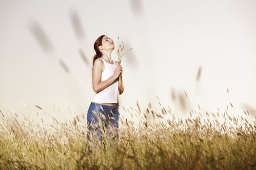
[[[52,51],[39,44],[35,25]],[[38,111],[52,115],[54,104],[60,120],[70,112],[86,115],[94,96],[93,44],[105,34],[116,46],[119,36],[126,49],[133,48],[122,59],[121,106],[135,108],[138,100],[142,108],[151,102],[158,110],[158,96],[177,117],[197,104],[202,112],[222,112],[229,102],[231,113],[256,114],[255,30],[255,0],[0,0],[0,110],[37,119]],[[178,97],[184,91],[187,110]]]

